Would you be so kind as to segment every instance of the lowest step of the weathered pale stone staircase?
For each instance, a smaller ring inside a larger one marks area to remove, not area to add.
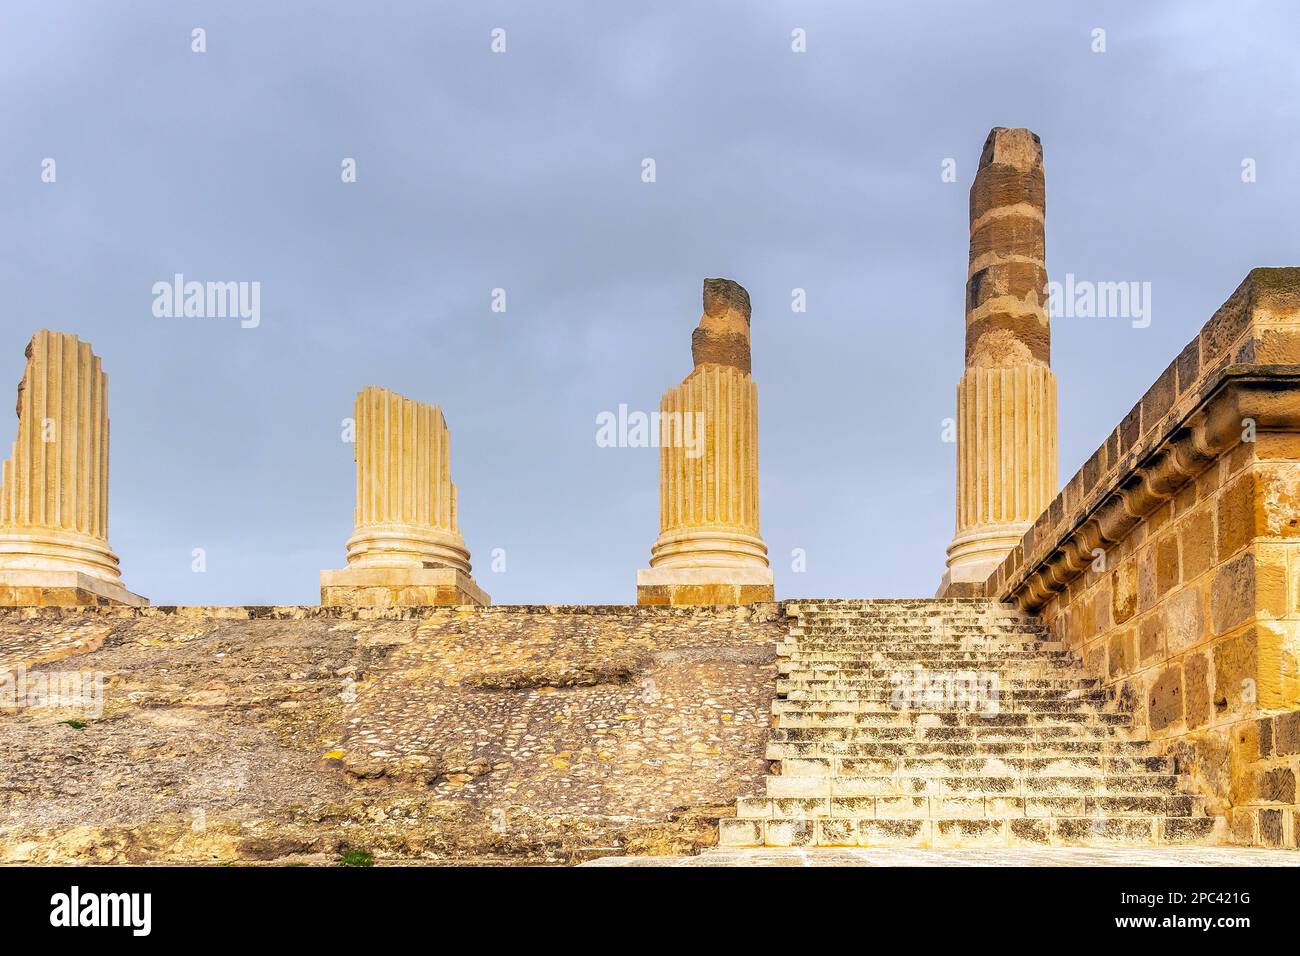
[[[724,818],[723,847],[1154,847],[1214,843],[1213,817],[1054,817],[1001,819]]]

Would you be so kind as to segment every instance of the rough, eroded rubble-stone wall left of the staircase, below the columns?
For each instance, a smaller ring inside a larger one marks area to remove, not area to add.
[[[681,853],[760,788],[776,605],[0,611],[0,862]],[[3,688],[0,688],[3,689]]]

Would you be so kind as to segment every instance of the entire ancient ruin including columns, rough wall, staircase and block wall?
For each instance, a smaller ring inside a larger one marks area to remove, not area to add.
[[[728,280],[621,606],[484,606],[442,414],[377,388],[324,606],[117,606],[104,378],[39,333],[0,501],[0,862],[1295,865],[1300,268],[1253,269],[1058,488],[1043,209],[1037,138],[994,129],[937,598],[774,600]],[[105,691],[75,721],[69,672]]]

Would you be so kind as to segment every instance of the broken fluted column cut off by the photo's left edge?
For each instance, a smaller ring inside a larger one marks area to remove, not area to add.
[[[0,605],[146,605],[108,546],[108,376],[90,343],[42,329],[0,470]]]

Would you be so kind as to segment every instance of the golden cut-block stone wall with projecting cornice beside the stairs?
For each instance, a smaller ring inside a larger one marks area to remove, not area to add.
[[[1296,845],[1300,269],[1247,277],[985,588],[1130,697],[1235,842]]]

